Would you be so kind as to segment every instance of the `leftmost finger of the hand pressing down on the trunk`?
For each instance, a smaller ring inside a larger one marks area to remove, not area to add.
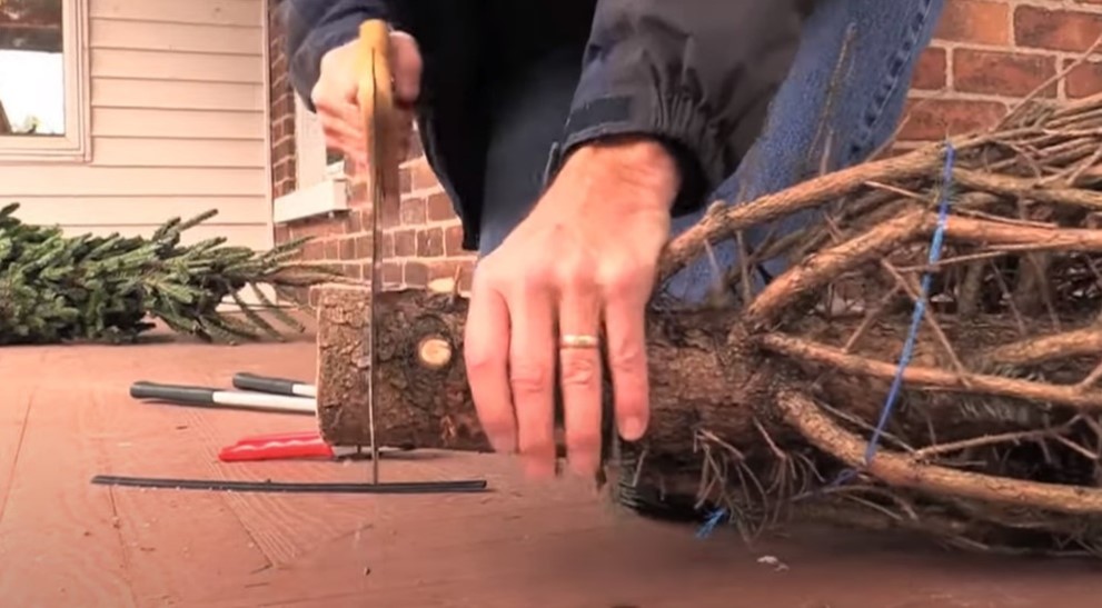
[[[517,428],[508,375],[509,309],[500,293],[477,280],[477,271],[475,277],[464,336],[467,380],[494,449],[512,453],[517,446]]]

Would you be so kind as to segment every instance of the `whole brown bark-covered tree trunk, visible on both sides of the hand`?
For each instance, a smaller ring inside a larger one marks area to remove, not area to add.
[[[332,443],[371,442],[368,302],[367,288],[320,288],[318,413],[321,432]],[[380,322],[375,361],[380,379],[375,387],[377,443],[488,450],[463,365],[466,299],[423,290],[390,291],[380,293],[376,306],[375,319]],[[850,345],[851,356],[890,366],[899,358],[905,316],[890,315],[866,326],[863,337]],[[842,345],[861,321],[860,317],[827,320],[808,315],[793,321],[791,329],[796,336]],[[651,457],[677,461],[692,457],[702,429],[739,450],[763,448],[765,432],[771,441],[792,439],[805,445],[782,423],[776,396],[785,389],[805,389],[865,425],[876,421],[890,390],[890,375],[838,372],[834,361],[794,351],[798,347],[791,346],[792,338],[767,332],[752,336],[742,322],[736,309],[651,312],[652,416],[645,439]],[[977,353],[990,352],[991,345],[1004,341],[1012,326],[1009,319],[1005,325],[989,319],[983,325],[943,323],[942,331],[957,346],[956,357],[982,367]],[[949,366],[941,342],[931,333],[929,329],[920,333],[913,366]],[[765,346],[772,348],[763,348],[763,336]],[[837,357],[843,350],[832,352]],[[952,390],[929,392],[922,387],[905,390],[902,397],[909,407],[896,415],[894,423],[926,435],[930,417],[934,417],[941,441],[1022,428],[1031,422],[1022,412],[1036,409],[1015,409],[1012,396],[969,397]]]

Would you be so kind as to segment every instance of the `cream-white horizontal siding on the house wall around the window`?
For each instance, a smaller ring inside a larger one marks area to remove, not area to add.
[[[73,232],[271,246],[265,0],[89,0],[91,162],[0,166],[0,203]]]

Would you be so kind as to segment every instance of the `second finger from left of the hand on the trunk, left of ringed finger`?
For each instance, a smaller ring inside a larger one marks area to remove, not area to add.
[[[550,477],[555,474],[555,302],[545,282],[516,282],[508,306],[517,445],[530,476]]]

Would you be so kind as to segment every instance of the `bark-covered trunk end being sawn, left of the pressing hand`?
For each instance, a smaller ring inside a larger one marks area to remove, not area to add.
[[[384,292],[375,302],[377,352],[366,352],[370,289],[318,288],[318,417],[326,441],[370,445],[370,373],[379,366],[375,436],[379,447],[489,449],[478,425],[461,358],[461,312],[454,298]],[[464,310],[465,311],[465,310]],[[353,365],[361,361],[360,365]]]

